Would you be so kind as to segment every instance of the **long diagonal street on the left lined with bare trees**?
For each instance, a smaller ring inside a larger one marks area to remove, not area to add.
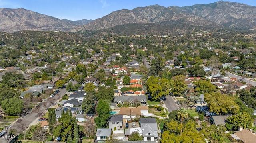
[[[76,84],[76,81],[72,81],[73,85]],[[22,121],[20,123],[12,123],[10,125],[10,127],[8,127],[8,129],[6,129],[6,131],[9,131],[10,129],[16,129],[18,131],[18,133],[22,133],[22,128],[28,128],[30,125],[32,125],[34,123],[34,121],[36,121],[38,119],[38,114],[42,114],[44,112],[46,112],[46,110],[52,106],[57,100],[59,100],[60,98],[62,98],[62,96],[66,93],[66,88],[60,89],[60,92],[58,94],[56,94],[54,97],[52,98],[46,98],[45,101],[41,102],[38,106],[36,106],[35,108],[32,109],[32,111],[27,114],[26,116],[24,116],[22,119]],[[0,143],[6,143],[6,140],[4,140],[3,138],[0,138]]]

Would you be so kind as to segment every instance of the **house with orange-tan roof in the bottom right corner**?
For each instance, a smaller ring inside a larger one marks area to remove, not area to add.
[[[238,132],[230,135],[236,140],[236,142],[238,141],[239,143],[241,141],[243,143],[256,143],[256,135],[248,129],[242,129],[242,127],[240,127]]]

